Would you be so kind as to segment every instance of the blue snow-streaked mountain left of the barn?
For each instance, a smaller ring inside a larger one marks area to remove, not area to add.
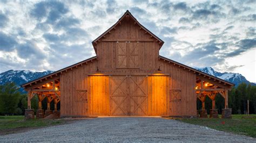
[[[0,74],[0,85],[6,82],[15,82],[17,85],[21,85],[28,81],[35,80],[36,78],[50,74],[53,71],[46,70],[42,72],[30,71],[30,70],[8,70]]]

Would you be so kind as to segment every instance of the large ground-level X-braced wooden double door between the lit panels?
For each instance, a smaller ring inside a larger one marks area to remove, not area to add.
[[[147,77],[110,76],[110,115],[147,116]]]

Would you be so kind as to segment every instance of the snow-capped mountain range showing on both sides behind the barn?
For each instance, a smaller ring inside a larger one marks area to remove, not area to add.
[[[255,83],[251,83],[250,81],[246,80],[244,76],[239,73],[220,73],[215,71],[211,67],[193,67],[197,70],[203,71],[206,74],[213,75],[215,77],[219,77],[225,81],[234,83],[236,86],[240,83],[244,82],[246,84],[256,85]],[[35,80],[36,78],[42,77],[44,75],[48,75],[53,73],[52,70],[46,70],[42,72],[38,71],[30,71],[30,70],[8,70],[0,74],[0,85],[5,84],[6,82],[15,82],[17,85],[21,85],[23,83]],[[21,89],[24,92],[23,89]]]

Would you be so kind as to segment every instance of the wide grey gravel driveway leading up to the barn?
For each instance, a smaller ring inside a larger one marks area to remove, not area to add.
[[[0,142],[10,141],[256,142],[256,139],[186,124],[177,120],[114,117],[82,119],[73,121],[71,124],[0,136]]]

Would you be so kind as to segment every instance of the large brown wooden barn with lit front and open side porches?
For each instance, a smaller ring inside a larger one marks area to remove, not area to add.
[[[22,85],[28,91],[25,117],[33,118],[35,96],[38,118],[52,113],[51,102],[54,113],[61,102],[61,117],[197,116],[197,98],[203,103],[200,116],[207,117],[206,97],[212,99],[211,117],[218,117],[217,94],[225,98],[223,117],[231,117],[227,91],[234,84],[160,56],[163,44],[126,11],[92,41],[97,56]]]

